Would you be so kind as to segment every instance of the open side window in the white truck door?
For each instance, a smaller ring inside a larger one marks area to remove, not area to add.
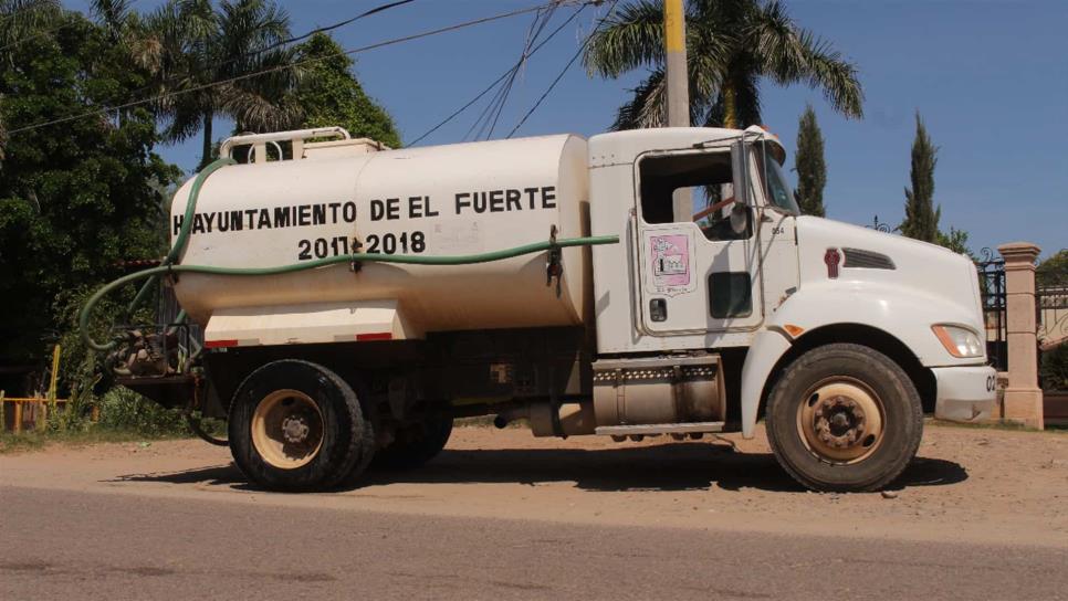
[[[742,240],[753,233],[750,210],[735,202],[729,151],[647,157],[638,164],[641,218],[646,223],[677,222],[676,190],[688,189],[690,220],[709,240]]]

